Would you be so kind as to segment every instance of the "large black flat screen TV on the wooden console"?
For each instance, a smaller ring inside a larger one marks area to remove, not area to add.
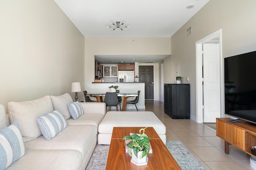
[[[224,58],[225,114],[256,125],[256,51]]]

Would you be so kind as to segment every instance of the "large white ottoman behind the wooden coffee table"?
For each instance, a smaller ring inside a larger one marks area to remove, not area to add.
[[[98,144],[110,145],[113,127],[154,127],[166,144],[165,125],[152,111],[108,111],[98,127]]]

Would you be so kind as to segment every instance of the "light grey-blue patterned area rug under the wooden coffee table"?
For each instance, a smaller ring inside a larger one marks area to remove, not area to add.
[[[166,147],[182,170],[204,170],[204,167],[190,154],[180,141],[166,141]],[[105,170],[109,145],[97,145],[86,170]]]

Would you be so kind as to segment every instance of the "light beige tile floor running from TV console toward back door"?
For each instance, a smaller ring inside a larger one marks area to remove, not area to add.
[[[163,102],[147,100],[145,106],[140,111],[154,112],[166,125],[166,140],[180,141],[206,170],[253,170],[250,155],[240,149],[230,146],[230,154],[224,153],[224,140],[216,136],[216,130],[190,119],[170,118]]]

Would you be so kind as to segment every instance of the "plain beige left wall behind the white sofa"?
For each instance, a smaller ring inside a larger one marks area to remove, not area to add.
[[[84,86],[84,36],[53,0],[1,0],[0,25],[5,108],[10,101],[66,92],[73,98],[71,82]]]

